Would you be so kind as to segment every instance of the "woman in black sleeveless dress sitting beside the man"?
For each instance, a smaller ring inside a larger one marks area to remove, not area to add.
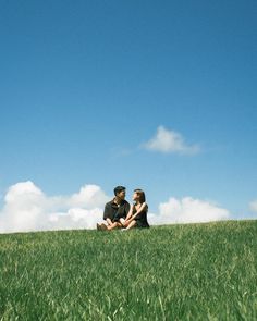
[[[130,212],[125,220],[120,220],[124,227],[122,231],[133,227],[149,227],[147,222],[148,206],[146,203],[145,193],[139,188],[135,189],[133,194],[133,200],[135,203],[131,206]]]

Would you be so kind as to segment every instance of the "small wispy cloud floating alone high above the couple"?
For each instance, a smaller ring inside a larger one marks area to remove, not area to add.
[[[199,146],[187,145],[180,133],[168,131],[163,126],[157,128],[154,138],[144,144],[148,150],[160,152],[175,152],[183,155],[194,155],[199,151]]]

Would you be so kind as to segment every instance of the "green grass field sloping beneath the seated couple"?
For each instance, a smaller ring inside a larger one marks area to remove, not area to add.
[[[0,320],[257,320],[257,221],[0,235]]]

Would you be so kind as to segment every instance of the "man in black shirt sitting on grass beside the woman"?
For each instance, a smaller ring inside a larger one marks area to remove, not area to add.
[[[103,220],[106,224],[97,224],[97,230],[113,230],[122,227],[120,220],[125,219],[130,212],[130,203],[125,200],[126,188],[124,186],[117,186],[114,188],[114,198],[106,203]]]

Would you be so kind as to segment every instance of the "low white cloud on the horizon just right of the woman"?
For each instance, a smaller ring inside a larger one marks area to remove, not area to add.
[[[159,205],[159,214],[149,214],[151,224],[171,223],[196,223],[210,222],[229,219],[228,210],[217,205],[185,197],[180,199],[170,198],[167,202]]]

